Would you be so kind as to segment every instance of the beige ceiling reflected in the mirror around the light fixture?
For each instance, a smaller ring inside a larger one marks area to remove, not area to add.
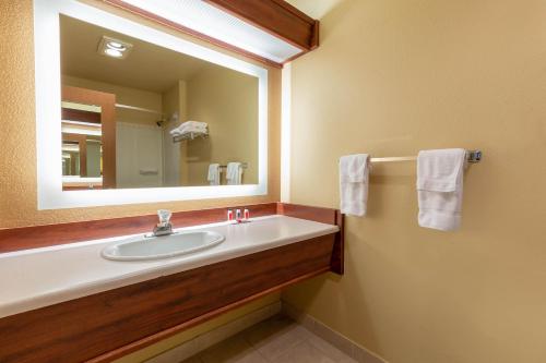
[[[218,66],[64,15],[61,16],[60,24],[63,75],[162,93],[178,80],[189,80],[207,66]],[[126,59],[115,59],[97,52],[104,35],[133,45]]]

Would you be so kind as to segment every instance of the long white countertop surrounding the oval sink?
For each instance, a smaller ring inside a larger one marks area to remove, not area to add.
[[[156,261],[115,262],[100,256],[106,245],[142,233],[0,254],[0,317],[339,231],[337,226],[278,215],[177,231],[205,229],[226,240],[197,253]]]

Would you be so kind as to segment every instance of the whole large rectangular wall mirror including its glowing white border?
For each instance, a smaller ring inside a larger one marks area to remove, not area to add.
[[[266,193],[268,71],[35,0],[38,207]]]

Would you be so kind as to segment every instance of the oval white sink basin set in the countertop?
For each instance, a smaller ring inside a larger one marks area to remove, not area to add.
[[[109,245],[103,257],[114,261],[145,261],[175,257],[212,247],[225,240],[213,231],[180,232],[163,237],[142,237],[130,242]]]

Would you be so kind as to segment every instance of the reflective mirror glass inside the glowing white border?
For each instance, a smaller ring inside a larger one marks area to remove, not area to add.
[[[63,190],[258,183],[258,78],[64,15]]]

